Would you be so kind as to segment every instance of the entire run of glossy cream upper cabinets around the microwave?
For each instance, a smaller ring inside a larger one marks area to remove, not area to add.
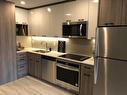
[[[25,12],[25,13],[24,13]],[[26,22],[30,35],[62,37],[62,23],[84,19],[88,21],[88,39],[95,36],[98,3],[76,0],[32,10],[16,9],[16,22]]]

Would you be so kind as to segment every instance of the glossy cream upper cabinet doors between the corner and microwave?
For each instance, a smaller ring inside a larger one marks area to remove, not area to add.
[[[31,35],[61,36],[62,8],[59,5],[30,10],[29,24]]]

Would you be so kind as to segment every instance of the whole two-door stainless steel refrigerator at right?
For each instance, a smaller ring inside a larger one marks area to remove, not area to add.
[[[127,27],[96,32],[94,95],[127,95]]]

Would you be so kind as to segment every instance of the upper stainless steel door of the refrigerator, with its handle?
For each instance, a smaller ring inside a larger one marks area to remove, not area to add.
[[[127,27],[101,27],[96,32],[95,56],[127,60]]]

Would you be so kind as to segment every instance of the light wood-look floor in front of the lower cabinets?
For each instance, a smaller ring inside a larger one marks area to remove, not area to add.
[[[0,95],[74,95],[30,76],[0,86]]]

